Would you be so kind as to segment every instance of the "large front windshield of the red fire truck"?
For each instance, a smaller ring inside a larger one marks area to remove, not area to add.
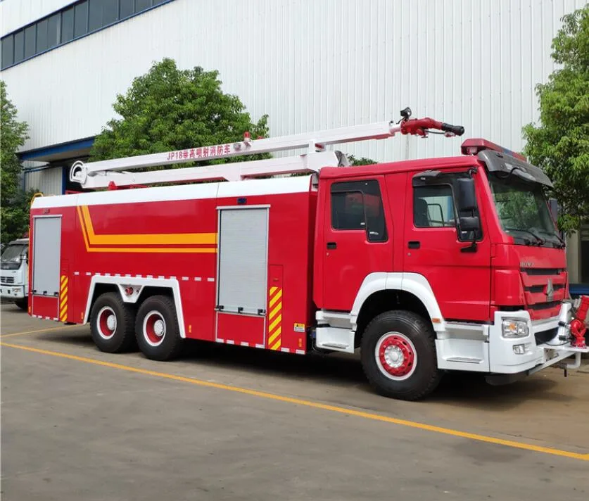
[[[562,246],[542,185],[493,172],[489,183],[501,226],[516,243]]]

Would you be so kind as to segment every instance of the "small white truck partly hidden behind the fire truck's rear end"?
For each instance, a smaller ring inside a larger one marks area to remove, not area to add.
[[[29,239],[13,240],[0,257],[0,298],[21,310],[29,305]]]

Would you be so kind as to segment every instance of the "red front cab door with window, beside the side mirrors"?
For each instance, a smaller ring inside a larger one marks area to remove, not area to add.
[[[476,232],[457,228],[456,182],[466,171],[423,172],[407,179],[404,271],[423,275],[447,320],[485,322],[490,316],[490,239],[484,227]],[[475,215],[481,225],[479,175]]]

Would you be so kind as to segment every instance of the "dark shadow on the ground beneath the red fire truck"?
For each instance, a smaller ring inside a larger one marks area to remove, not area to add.
[[[77,329],[76,329],[77,331]],[[97,350],[89,332],[63,332],[39,335],[43,341],[77,345]],[[141,353],[112,355],[113,362],[129,363],[128,357],[143,357]],[[120,358],[119,358],[120,357]],[[119,358],[119,360],[116,360]],[[174,372],[174,365],[194,367],[201,365],[231,372],[248,372],[260,376],[278,377],[289,381],[312,381],[336,389],[350,388],[354,393],[372,393],[357,355],[293,355],[274,353],[234,345],[221,345],[203,341],[188,341],[179,359],[172,364],[162,364],[163,372]],[[196,376],[198,377],[198,376]],[[504,386],[491,386],[481,374],[448,373],[440,386],[424,402],[438,405],[467,405],[473,409],[501,412],[518,407],[526,400],[546,402],[569,402],[570,395],[551,391],[557,383],[541,374],[528,376],[521,381]],[[346,403],[346,402],[341,402]],[[349,405],[348,402],[347,405]],[[419,404],[417,404],[419,405]]]

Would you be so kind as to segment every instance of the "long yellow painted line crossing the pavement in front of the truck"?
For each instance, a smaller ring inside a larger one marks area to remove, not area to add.
[[[8,334],[8,336],[9,335],[10,334]],[[31,348],[30,346],[15,345],[3,342],[0,342],[0,345],[6,346],[7,348],[17,348],[18,350],[30,351],[32,353],[42,353],[43,355],[53,355],[54,357],[62,357],[67,358],[69,360],[77,360],[78,362],[86,362],[88,364],[101,365],[103,367],[110,367],[111,369],[121,369],[127,372],[145,374],[146,376],[155,376],[164,379],[172,379],[174,381],[182,381],[183,383],[196,384],[198,386],[205,386],[207,388],[217,388],[219,390],[233,391],[235,393],[252,395],[254,397],[267,398],[268,400],[277,400],[279,402],[288,402],[291,404],[303,405],[305,407],[313,407],[315,409],[328,410],[331,412],[338,412],[340,414],[348,414],[349,416],[362,417],[365,419],[371,419],[372,421],[384,421],[385,423],[398,424],[400,426],[408,426],[410,428],[419,430],[433,431],[434,433],[441,433],[443,435],[450,435],[460,438],[469,438],[470,440],[478,440],[479,442],[493,443],[496,445],[505,445],[511,448],[531,450],[533,452],[543,452],[544,454],[569,457],[571,459],[581,459],[581,461],[589,461],[589,454],[580,454],[578,452],[570,452],[567,450],[542,447],[541,445],[532,445],[524,442],[516,442],[514,440],[504,440],[502,438],[479,435],[477,433],[467,433],[465,431],[453,430],[450,428],[442,428],[441,426],[433,426],[431,424],[423,424],[418,423],[416,421],[407,421],[406,419],[398,419],[395,417],[382,416],[380,414],[372,414],[371,412],[346,409],[346,407],[337,407],[335,405],[327,405],[319,402],[312,402],[310,400],[303,400],[300,398],[291,398],[282,395],[275,395],[274,393],[266,393],[265,391],[248,390],[247,388],[240,388],[239,386],[229,386],[227,384],[211,383],[210,381],[202,381],[201,379],[176,376],[175,374],[168,374],[167,372],[156,372],[150,371],[148,369],[139,369],[139,367],[131,367],[129,365],[113,364],[112,362],[104,362],[103,360],[96,360],[94,358],[79,357],[77,355],[70,355],[68,353],[61,353],[58,351],[41,350],[39,348]]]

